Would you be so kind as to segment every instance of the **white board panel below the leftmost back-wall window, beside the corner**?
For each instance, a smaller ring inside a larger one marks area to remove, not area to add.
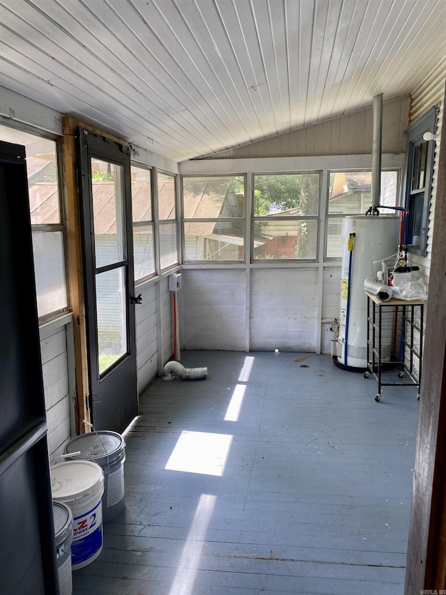
[[[245,269],[183,270],[183,349],[245,350]]]

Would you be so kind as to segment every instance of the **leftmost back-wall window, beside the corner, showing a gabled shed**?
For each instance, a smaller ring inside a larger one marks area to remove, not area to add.
[[[185,262],[245,260],[244,176],[183,177]]]

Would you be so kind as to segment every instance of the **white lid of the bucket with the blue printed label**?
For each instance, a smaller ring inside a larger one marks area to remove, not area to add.
[[[99,465],[88,460],[67,460],[50,467],[51,491],[54,499],[63,502],[79,500],[104,490],[104,473]]]

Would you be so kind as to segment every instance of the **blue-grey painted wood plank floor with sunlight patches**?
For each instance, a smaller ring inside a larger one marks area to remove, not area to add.
[[[376,403],[373,378],[303,356],[183,352],[205,380],[148,386],[125,510],[73,595],[403,594],[416,390]]]

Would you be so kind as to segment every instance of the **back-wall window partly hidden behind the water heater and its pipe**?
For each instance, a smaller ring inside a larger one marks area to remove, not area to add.
[[[395,211],[383,207],[397,206],[397,199],[398,172],[381,172],[380,213],[394,215]],[[371,172],[330,172],[325,257],[342,257],[344,218],[348,215],[365,215],[369,206]]]

